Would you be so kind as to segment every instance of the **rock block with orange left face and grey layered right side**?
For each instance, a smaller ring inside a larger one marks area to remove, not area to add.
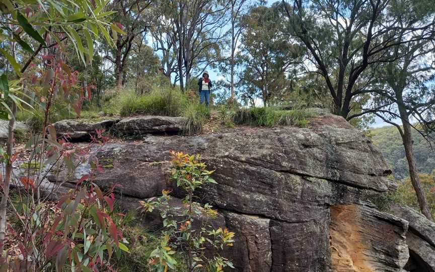
[[[400,271],[405,265],[406,221],[366,205],[336,205],[331,207],[330,214],[333,271]],[[385,219],[380,220],[380,216]]]

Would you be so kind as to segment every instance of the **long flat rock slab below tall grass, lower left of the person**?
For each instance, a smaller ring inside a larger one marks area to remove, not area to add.
[[[116,124],[123,135],[140,136],[147,133],[176,134],[184,127],[186,118],[170,116],[137,116],[125,118]]]

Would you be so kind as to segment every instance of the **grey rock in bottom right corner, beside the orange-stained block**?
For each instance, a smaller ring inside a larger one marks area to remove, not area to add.
[[[435,271],[435,223],[407,206],[392,205],[391,211],[409,222],[406,243],[409,246],[409,271]]]

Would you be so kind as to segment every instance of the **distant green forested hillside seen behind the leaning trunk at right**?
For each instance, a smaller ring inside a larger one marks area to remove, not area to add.
[[[399,131],[394,126],[384,126],[371,129],[370,136],[373,143],[384,155],[387,163],[393,170],[396,179],[403,179],[409,176],[408,164],[406,162],[405,150]],[[435,169],[435,157],[429,144],[417,132],[413,131],[414,155],[420,173],[430,174]]]

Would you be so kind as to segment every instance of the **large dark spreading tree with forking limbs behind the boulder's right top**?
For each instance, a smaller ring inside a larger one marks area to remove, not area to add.
[[[386,53],[432,22],[412,20],[413,0],[283,0],[286,34],[306,47],[305,69],[320,74],[333,100],[333,112],[347,119],[374,79],[370,67],[394,61]],[[420,38],[416,38],[420,39]],[[401,56],[396,56],[399,59]],[[366,112],[360,111],[365,114]]]

